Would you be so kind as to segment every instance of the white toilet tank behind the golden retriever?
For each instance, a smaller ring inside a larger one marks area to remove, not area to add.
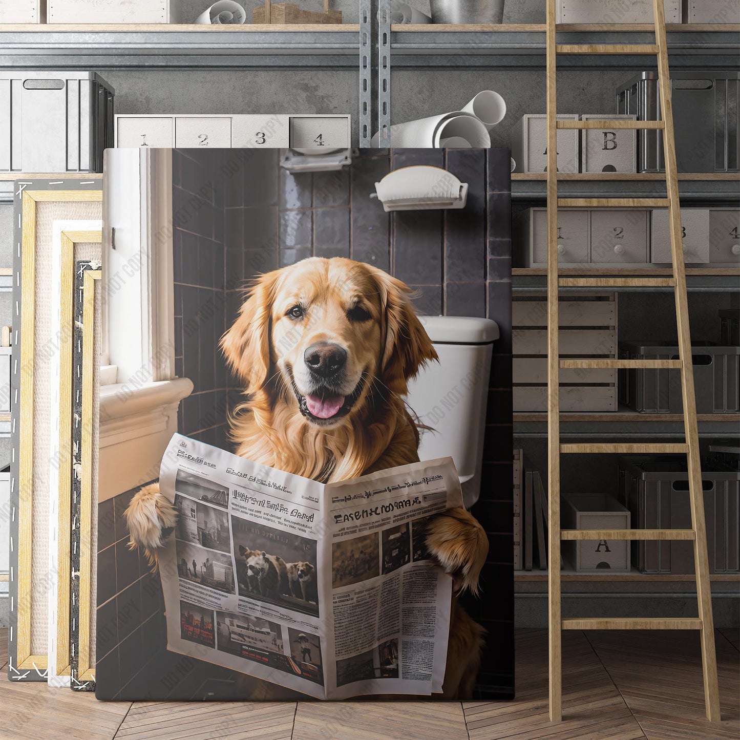
[[[420,316],[439,363],[428,363],[408,384],[406,403],[420,423],[420,460],[452,457],[465,506],[480,496],[485,410],[491,353],[499,338],[495,321],[459,316]]]

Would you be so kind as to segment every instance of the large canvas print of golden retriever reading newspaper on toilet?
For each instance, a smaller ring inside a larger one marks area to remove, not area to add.
[[[125,671],[98,650],[98,698],[511,696],[511,565],[487,557],[511,532],[487,503],[511,500],[492,477],[511,404],[485,412],[489,388],[511,396],[508,150],[108,154],[111,208],[124,158],[166,156],[149,186],[172,212],[174,334],[152,353],[182,436],[127,458],[141,483],[112,502],[147,650]],[[457,630],[473,650],[449,652]]]

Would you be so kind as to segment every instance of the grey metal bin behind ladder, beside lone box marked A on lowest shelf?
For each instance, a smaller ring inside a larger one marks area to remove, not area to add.
[[[622,457],[619,498],[636,529],[691,529],[686,461]],[[740,472],[702,462],[710,573],[740,572]],[[693,573],[693,542],[633,542],[632,563],[642,573]]]

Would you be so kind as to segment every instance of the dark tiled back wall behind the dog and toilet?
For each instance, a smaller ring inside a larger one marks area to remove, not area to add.
[[[226,192],[227,323],[240,305],[241,280],[312,255],[349,257],[391,272],[417,290],[425,314],[488,316],[494,344],[484,474],[474,514],[491,542],[482,573],[485,596],[468,610],[489,630],[481,696],[514,690],[514,572],[511,413],[511,175],[508,149],[365,150],[349,171],[291,175],[277,152],[250,152],[230,169]],[[238,165],[241,164],[240,168]],[[460,211],[386,214],[370,199],[391,169],[446,167],[468,183]],[[234,235],[233,247],[229,235]],[[241,238],[238,238],[241,235]],[[239,249],[240,244],[246,251]],[[234,252],[232,254],[232,252]],[[238,387],[235,384],[235,387]],[[234,396],[235,394],[231,394]],[[232,399],[235,400],[235,399]]]

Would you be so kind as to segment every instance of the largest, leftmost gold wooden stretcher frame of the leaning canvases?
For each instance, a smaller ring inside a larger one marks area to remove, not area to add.
[[[45,670],[48,655],[31,654],[33,583],[33,363],[36,336],[36,203],[95,202],[101,190],[24,190],[21,197],[21,383],[18,461],[18,568],[16,668]],[[30,338],[29,338],[30,337]],[[27,375],[26,378],[23,376]],[[25,382],[24,382],[25,380]]]

